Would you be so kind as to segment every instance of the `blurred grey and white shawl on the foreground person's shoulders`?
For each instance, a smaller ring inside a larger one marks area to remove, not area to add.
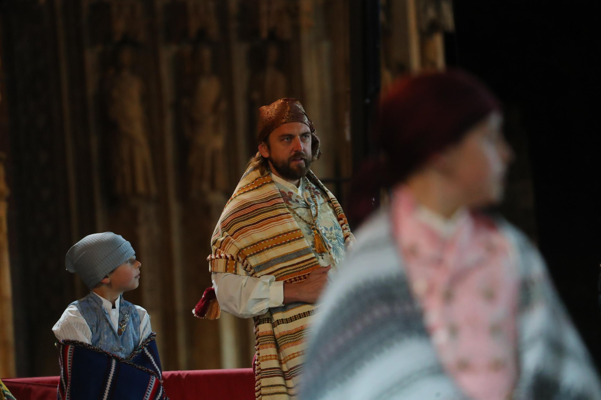
[[[599,377],[529,240],[499,222],[520,271],[519,377],[513,400],[601,400]],[[392,239],[373,216],[323,296],[301,400],[467,399],[439,362]]]

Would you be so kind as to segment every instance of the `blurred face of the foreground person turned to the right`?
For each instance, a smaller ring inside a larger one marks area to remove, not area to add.
[[[448,179],[462,193],[468,207],[497,204],[503,197],[505,172],[513,151],[505,141],[501,124],[501,114],[493,112],[442,156]]]

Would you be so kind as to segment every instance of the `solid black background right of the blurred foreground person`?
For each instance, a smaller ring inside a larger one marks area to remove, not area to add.
[[[534,229],[522,228],[599,368],[599,4],[551,4],[457,0],[447,59],[484,79],[513,113],[505,130],[528,149],[517,152],[517,168],[529,158],[534,188]]]

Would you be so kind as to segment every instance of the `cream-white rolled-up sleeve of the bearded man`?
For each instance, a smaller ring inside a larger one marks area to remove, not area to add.
[[[275,276],[240,276],[231,273],[212,274],[219,307],[240,318],[265,314],[284,302],[284,282]]]

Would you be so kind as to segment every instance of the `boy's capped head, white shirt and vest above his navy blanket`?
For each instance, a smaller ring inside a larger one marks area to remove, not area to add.
[[[146,310],[123,300],[123,292],[139,285],[142,264],[132,245],[112,232],[88,235],[67,252],[66,264],[91,292],[63,312],[52,328],[56,338],[129,356],[151,332]]]

